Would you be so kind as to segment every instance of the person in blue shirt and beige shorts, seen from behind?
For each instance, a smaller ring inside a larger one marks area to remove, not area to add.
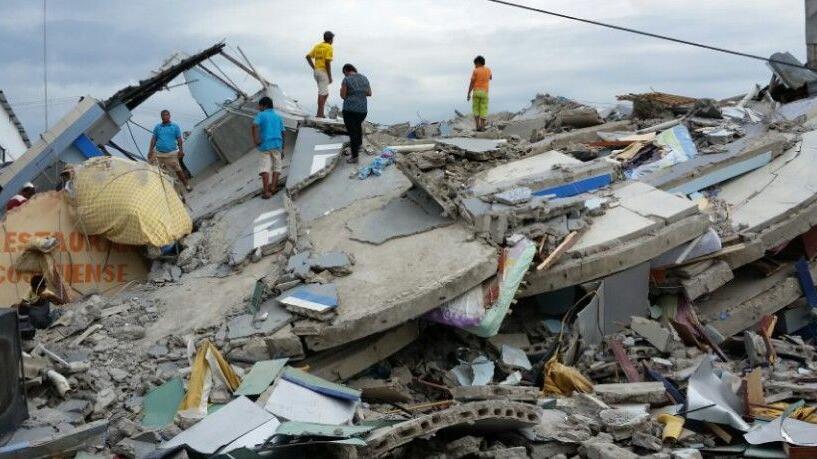
[[[284,121],[272,109],[272,99],[262,97],[258,101],[261,110],[252,121],[254,153],[259,157],[258,175],[261,176],[261,197],[269,199],[278,191],[284,150]]]

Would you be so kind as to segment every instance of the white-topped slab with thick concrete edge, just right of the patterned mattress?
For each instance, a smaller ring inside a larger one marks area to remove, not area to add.
[[[614,189],[618,205],[593,217],[562,259],[528,274],[524,296],[581,284],[651,260],[703,234],[709,221],[695,203],[630,182]]]

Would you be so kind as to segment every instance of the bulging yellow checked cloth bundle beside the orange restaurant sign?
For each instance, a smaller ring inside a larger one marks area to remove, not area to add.
[[[75,167],[78,227],[120,244],[161,247],[193,230],[173,181],[143,162],[98,157]]]

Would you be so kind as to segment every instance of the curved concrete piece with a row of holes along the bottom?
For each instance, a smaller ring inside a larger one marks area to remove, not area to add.
[[[464,403],[375,430],[366,438],[364,454],[382,457],[415,438],[450,427],[507,431],[538,423],[539,413],[534,405],[499,400]]]

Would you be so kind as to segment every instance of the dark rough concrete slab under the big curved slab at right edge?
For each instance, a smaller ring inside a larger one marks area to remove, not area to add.
[[[817,262],[809,264],[809,271],[812,278],[817,276]],[[737,277],[696,303],[695,308],[703,322],[729,337],[753,327],[764,315],[774,314],[802,296],[797,276],[787,267],[765,278]]]

